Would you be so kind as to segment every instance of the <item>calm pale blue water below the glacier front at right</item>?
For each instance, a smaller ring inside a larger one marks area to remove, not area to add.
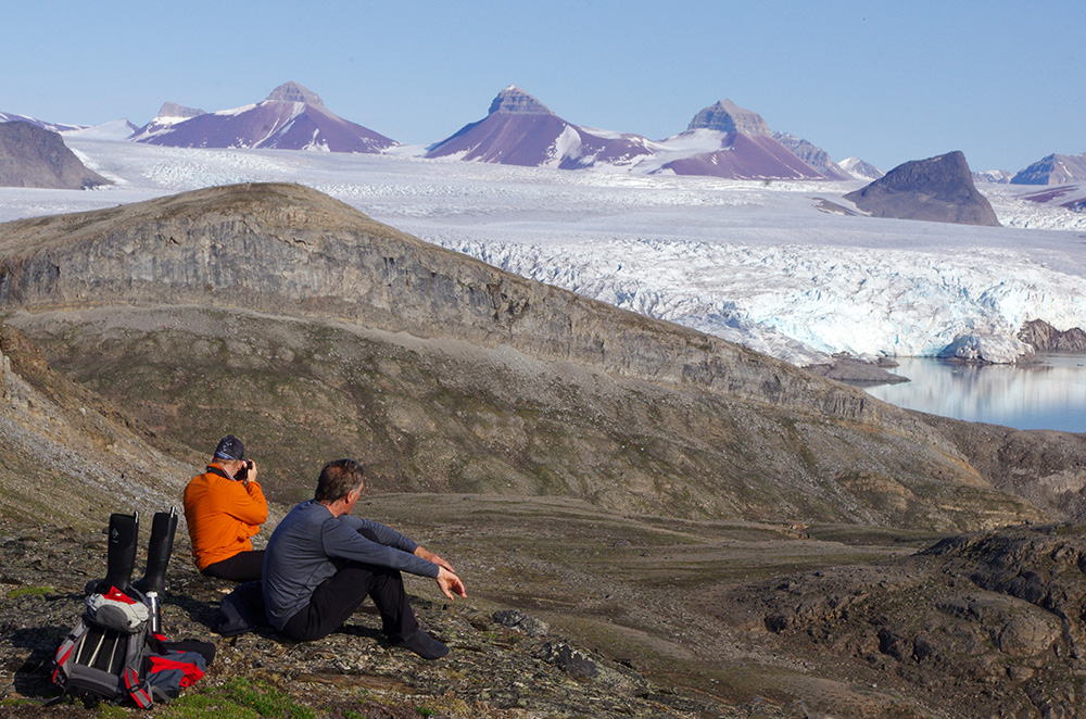
[[[968,366],[898,357],[911,382],[867,388],[901,407],[1018,429],[1086,432],[1086,355],[1040,355],[1028,366]]]

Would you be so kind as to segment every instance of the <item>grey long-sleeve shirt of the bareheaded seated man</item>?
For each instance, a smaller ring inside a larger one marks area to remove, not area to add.
[[[358,533],[370,529],[380,540]],[[283,517],[264,553],[264,605],[276,629],[310,604],[314,590],[338,570],[333,559],[391,567],[421,577],[438,576],[438,565],[413,554],[417,543],[370,519],[334,517],[316,500],[299,504]]]

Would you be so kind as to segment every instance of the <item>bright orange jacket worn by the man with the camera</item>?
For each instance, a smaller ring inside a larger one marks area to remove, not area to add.
[[[185,521],[192,558],[201,570],[239,552],[252,552],[250,538],[267,521],[268,503],[255,481],[244,485],[218,465],[193,477],[185,488]]]

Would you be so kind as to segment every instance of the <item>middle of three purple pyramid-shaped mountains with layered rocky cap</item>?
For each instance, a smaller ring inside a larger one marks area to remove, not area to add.
[[[637,135],[580,127],[551,112],[515,85],[494,98],[487,117],[427,149],[427,157],[578,169],[622,166],[651,153]]]

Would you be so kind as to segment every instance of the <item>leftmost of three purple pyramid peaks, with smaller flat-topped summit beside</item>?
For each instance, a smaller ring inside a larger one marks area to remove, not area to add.
[[[343,119],[298,83],[280,85],[265,99],[233,110],[204,113],[166,103],[131,138],[175,148],[269,148],[324,152],[382,152],[397,142]]]

